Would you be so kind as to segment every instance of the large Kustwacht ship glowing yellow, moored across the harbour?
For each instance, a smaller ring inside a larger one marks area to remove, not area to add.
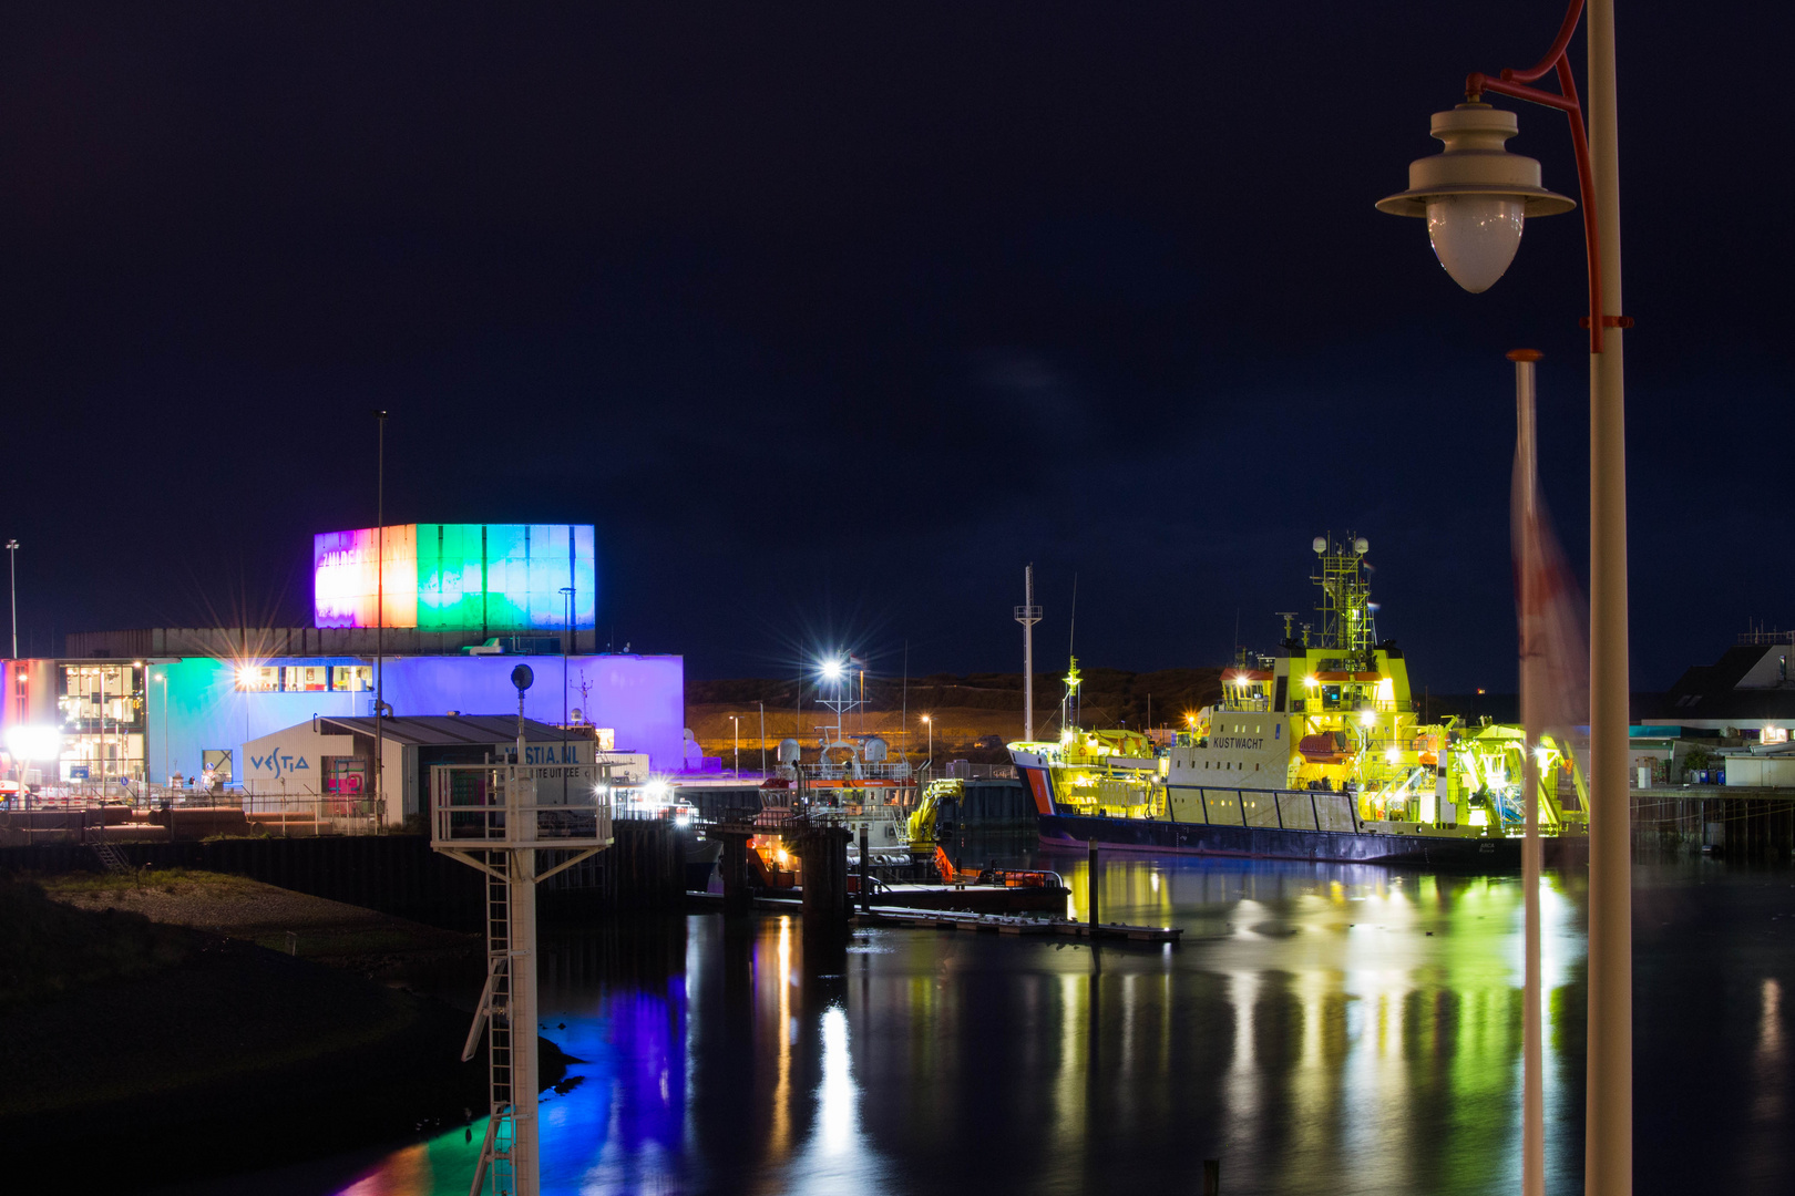
[[[1318,536],[1319,626],[1283,617],[1276,653],[1240,653],[1222,699],[1156,741],[1079,726],[1079,667],[1057,741],[1012,742],[1043,845],[1273,859],[1520,866],[1526,735],[1423,724],[1395,640],[1379,640],[1370,543]],[[1547,739],[1540,836],[1551,861],[1587,843],[1576,751]]]

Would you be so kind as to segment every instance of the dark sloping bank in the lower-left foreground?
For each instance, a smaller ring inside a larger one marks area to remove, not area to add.
[[[7,1187],[129,1191],[442,1133],[468,1015],[255,943],[0,880]],[[542,1044],[544,1083],[567,1058]]]

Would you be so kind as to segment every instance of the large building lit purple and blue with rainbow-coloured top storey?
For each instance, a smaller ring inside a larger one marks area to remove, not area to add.
[[[598,651],[592,543],[589,524],[323,533],[311,628],[79,633],[63,656],[0,663],[0,767],[50,785],[241,784],[255,773],[246,744],[372,719],[377,687],[391,715],[515,724],[512,669],[528,663],[526,717],[596,728],[596,742],[679,771],[684,660]]]

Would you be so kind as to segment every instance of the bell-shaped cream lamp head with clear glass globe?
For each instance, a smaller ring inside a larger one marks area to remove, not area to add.
[[[1511,154],[1515,113],[1459,104],[1434,113],[1429,129],[1445,145],[1409,163],[1409,190],[1377,201],[1379,212],[1427,219],[1434,256],[1472,294],[1488,290],[1515,260],[1529,215],[1558,215],[1576,203],[1540,186],[1540,163]]]

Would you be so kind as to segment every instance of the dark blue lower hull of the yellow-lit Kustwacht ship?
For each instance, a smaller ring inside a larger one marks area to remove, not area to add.
[[[1282,830],[1176,823],[1163,818],[1041,814],[1043,846],[1086,846],[1158,855],[1233,855],[1343,864],[1395,864],[1463,871],[1520,868],[1520,839],[1472,839],[1343,830]],[[1587,852],[1578,837],[1545,839],[1545,862],[1572,862]]]

